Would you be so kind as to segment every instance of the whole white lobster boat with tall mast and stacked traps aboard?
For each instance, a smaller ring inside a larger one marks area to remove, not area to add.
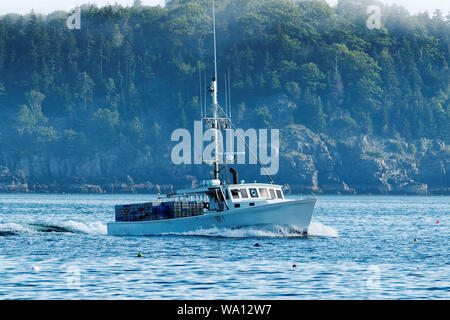
[[[205,110],[203,115],[202,107],[202,119],[206,126],[215,130],[214,177],[202,181],[198,188],[178,190],[155,202],[116,206],[116,221],[108,223],[109,235],[147,236],[267,225],[293,227],[304,234],[308,232],[317,199],[285,198],[282,186],[273,184],[269,175],[270,184],[239,183],[237,172],[230,168],[232,183],[219,178],[221,170],[227,167],[225,162],[220,168],[218,131],[229,129],[233,124],[217,100],[214,0],[213,23],[215,77],[209,87],[212,114],[208,117]],[[241,139],[245,142],[245,138]]]

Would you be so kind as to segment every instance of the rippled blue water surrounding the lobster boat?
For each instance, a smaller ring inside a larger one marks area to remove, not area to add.
[[[106,235],[115,204],[147,200],[0,194],[0,299],[450,298],[450,197],[319,197],[308,237]]]

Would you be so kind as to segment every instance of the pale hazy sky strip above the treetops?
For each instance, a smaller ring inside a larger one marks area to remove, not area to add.
[[[330,4],[338,0],[327,0]],[[399,4],[412,13],[441,9],[444,15],[450,11],[450,0],[380,0],[384,3]],[[133,0],[0,0],[0,14],[15,12],[26,14],[34,9],[37,13],[50,13],[56,10],[68,10],[83,3],[95,3],[98,6],[120,3],[132,5]],[[164,5],[165,0],[142,0],[144,5]]]

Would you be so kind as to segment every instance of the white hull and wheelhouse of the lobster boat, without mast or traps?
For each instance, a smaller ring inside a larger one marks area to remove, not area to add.
[[[204,187],[180,190],[172,196],[174,203],[188,199],[205,200],[200,202],[206,204],[201,214],[169,216],[161,220],[110,222],[108,234],[145,236],[267,225],[293,227],[303,234],[308,232],[316,199],[286,199],[282,187],[274,184],[226,185],[219,180],[204,183],[207,184]],[[119,206],[118,209],[121,208]]]

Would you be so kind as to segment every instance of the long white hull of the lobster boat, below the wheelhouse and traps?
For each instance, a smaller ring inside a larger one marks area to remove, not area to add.
[[[308,231],[317,199],[292,200],[234,209],[208,212],[204,215],[156,221],[110,222],[108,235],[148,236],[168,233],[183,233],[210,228],[242,228],[256,225],[295,226]]]

